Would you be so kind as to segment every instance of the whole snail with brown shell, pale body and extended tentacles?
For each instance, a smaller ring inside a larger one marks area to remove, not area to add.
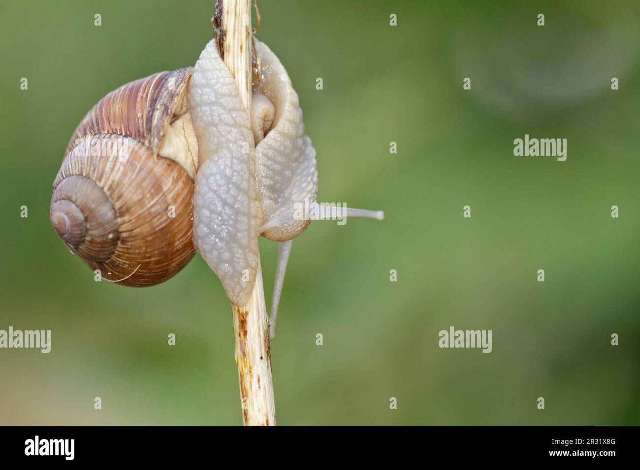
[[[260,235],[279,242],[273,334],[291,246],[310,221],[384,215],[317,203],[316,151],[298,95],[271,49],[254,44],[250,113],[216,40],[193,68],[102,98],[67,146],[50,220],[72,253],[123,285],[166,281],[198,251],[236,305],[253,288]]]

